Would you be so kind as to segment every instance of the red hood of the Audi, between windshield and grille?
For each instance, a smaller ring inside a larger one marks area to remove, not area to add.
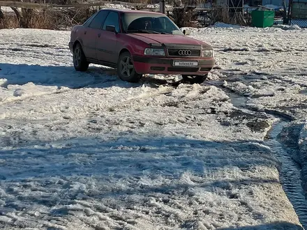
[[[153,33],[129,33],[129,36],[144,41],[145,43],[160,44],[180,44],[180,45],[202,45],[202,47],[211,48],[211,45],[201,40],[189,38],[188,36],[172,35],[172,34],[153,34]]]

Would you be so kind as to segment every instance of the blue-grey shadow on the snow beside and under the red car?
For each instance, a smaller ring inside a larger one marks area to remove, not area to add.
[[[23,85],[33,83],[43,86],[68,87],[80,89],[83,87],[107,88],[120,86],[124,88],[138,87],[140,84],[149,84],[156,87],[168,84],[166,79],[142,77],[138,83],[123,82],[117,75],[117,70],[105,66],[90,66],[86,72],[77,72],[73,66],[40,66],[27,64],[0,63],[1,87],[8,85]],[[179,83],[171,82],[174,86]]]

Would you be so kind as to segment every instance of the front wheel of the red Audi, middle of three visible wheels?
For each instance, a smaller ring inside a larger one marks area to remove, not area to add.
[[[125,82],[139,82],[142,75],[135,72],[133,59],[129,52],[123,52],[119,55],[117,63],[117,74]]]

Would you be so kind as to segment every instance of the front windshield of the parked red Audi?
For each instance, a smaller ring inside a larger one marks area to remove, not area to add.
[[[122,17],[126,33],[163,33],[184,35],[169,17],[153,13],[125,13]]]

